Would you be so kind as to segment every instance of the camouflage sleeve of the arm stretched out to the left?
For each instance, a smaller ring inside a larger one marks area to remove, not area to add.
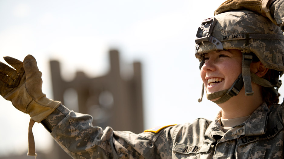
[[[73,158],[142,159],[163,158],[160,154],[166,151],[167,156],[171,154],[170,128],[160,133],[134,134],[114,131],[111,127],[103,130],[92,126],[92,120],[90,115],[75,113],[60,105],[42,124]]]

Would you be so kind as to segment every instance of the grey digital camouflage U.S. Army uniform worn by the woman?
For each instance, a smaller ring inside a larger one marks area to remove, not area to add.
[[[284,26],[284,0],[271,13]],[[134,134],[92,126],[92,117],[63,105],[41,123],[73,158],[283,158],[283,104],[257,108],[248,120],[223,133],[221,114],[215,121],[149,129]]]

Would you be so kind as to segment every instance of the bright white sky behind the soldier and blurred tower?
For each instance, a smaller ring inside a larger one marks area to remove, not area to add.
[[[220,108],[206,98],[197,102],[202,81],[194,39],[202,20],[222,2],[1,0],[0,55],[21,61],[33,55],[43,73],[42,90],[53,98],[50,60],[60,61],[65,80],[76,71],[95,77],[107,73],[108,51],[118,49],[122,69],[142,63],[145,129],[199,117],[213,120]],[[0,141],[5,143],[0,156],[26,153],[29,116],[4,98],[0,108]],[[48,131],[36,123],[33,133],[37,151],[50,151]]]

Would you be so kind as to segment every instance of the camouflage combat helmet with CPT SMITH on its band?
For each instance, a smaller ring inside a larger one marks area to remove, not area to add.
[[[246,95],[253,95],[251,79],[253,82],[255,82],[254,80],[258,81],[255,83],[265,87],[280,87],[281,81],[279,82],[278,77],[275,83],[269,82],[267,84],[268,81],[263,82],[262,79],[259,82],[259,78],[251,75],[249,70],[252,60],[251,53],[254,53],[266,68],[284,71],[284,35],[280,27],[266,17],[252,11],[221,13],[203,20],[196,37],[195,56],[200,61],[200,68],[204,63],[203,55],[205,53],[238,49],[243,52],[243,73],[237,80],[244,81]],[[281,76],[282,73],[279,75]],[[237,95],[243,85],[239,86],[238,91],[233,91],[233,95]],[[224,92],[222,93],[224,94]],[[228,94],[228,92],[226,93]]]

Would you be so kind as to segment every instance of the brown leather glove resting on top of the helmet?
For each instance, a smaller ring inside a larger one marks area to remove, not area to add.
[[[216,9],[214,15],[232,10],[253,11],[268,17],[274,24],[278,25],[270,13],[269,0],[227,0]]]

